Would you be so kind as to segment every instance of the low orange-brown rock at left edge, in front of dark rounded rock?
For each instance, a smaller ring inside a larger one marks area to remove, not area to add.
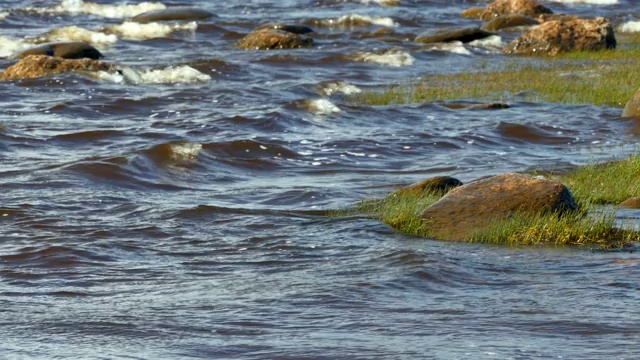
[[[30,79],[71,71],[109,71],[113,65],[92,59],[63,59],[46,55],[27,56],[0,73],[0,80]]]

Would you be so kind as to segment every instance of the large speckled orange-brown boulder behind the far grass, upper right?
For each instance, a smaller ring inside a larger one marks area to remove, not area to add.
[[[613,27],[605,18],[547,21],[513,40],[506,54],[556,56],[571,51],[614,49]]]

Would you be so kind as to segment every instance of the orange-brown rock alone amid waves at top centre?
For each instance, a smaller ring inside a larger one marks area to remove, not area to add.
[[[254,30],[236,46],[248,50],[273,50],[312,47],[313,39],[278,29]]]

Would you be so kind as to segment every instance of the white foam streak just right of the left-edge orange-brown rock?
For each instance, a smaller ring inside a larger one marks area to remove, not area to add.
[[[125,67],[119,73],[99,71],[101,80],[130,84],[192,84],[207,82],[211,76],[203,74],[190,66],[168,67],[164,69],[136,70]]]

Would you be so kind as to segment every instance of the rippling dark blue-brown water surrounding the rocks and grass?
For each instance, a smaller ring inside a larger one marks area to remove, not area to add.
[[[104,35],[132,16],[99,3],[3,1],[0,66],[50,30]],[[616,26],[640,18],[632,0],[544,3]],[[468,181],[637,150],[620,108],[535,94],[504,94],[502,111],[369,107],[329,94],[503,66],[515,34],[411,41],[476,24],[459,13],[485,2],[164,4],[217,17],[96,44],[132,78],[0,83],[0,358],[640,356],[637,253],[437,242],[325,216],[433,175]],[[349,14],[384,19],[335,20]],[[317,47],[233,46],[269,21],[314,27]],[[374,34],[385,25],[392,34]]]

